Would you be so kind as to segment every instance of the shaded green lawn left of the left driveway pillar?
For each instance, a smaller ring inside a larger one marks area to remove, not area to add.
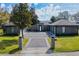
[[[18,36],[16,37],[0,37],[0,54],[9,53],[18,47]]]

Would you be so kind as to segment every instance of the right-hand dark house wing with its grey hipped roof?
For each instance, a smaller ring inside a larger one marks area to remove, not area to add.
[[[50,31],[56,35],[78,35],[79,24],[69,20],[58,20],[50,25]]]

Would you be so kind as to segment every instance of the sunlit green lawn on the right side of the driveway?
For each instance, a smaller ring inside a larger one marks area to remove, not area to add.
[[[51,42],[50,38],[48,39]],[[79,51],[79,36],[60,36],[55,41],[55,52]]]

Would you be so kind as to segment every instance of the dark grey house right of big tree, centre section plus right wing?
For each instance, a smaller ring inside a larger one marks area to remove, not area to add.
[[[69,20],[58,20],[54,23],[40,23],[34,25],[31,31],[51,31],[55,35],[78,35],[79,24]]]

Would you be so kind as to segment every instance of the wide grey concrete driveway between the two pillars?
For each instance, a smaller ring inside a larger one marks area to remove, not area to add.
[[[46,54],[47,50],[50,48],[46,32],[26,32],[24,33],[24,37],[29,38],[29,42],[20,52],[22,55]]]

